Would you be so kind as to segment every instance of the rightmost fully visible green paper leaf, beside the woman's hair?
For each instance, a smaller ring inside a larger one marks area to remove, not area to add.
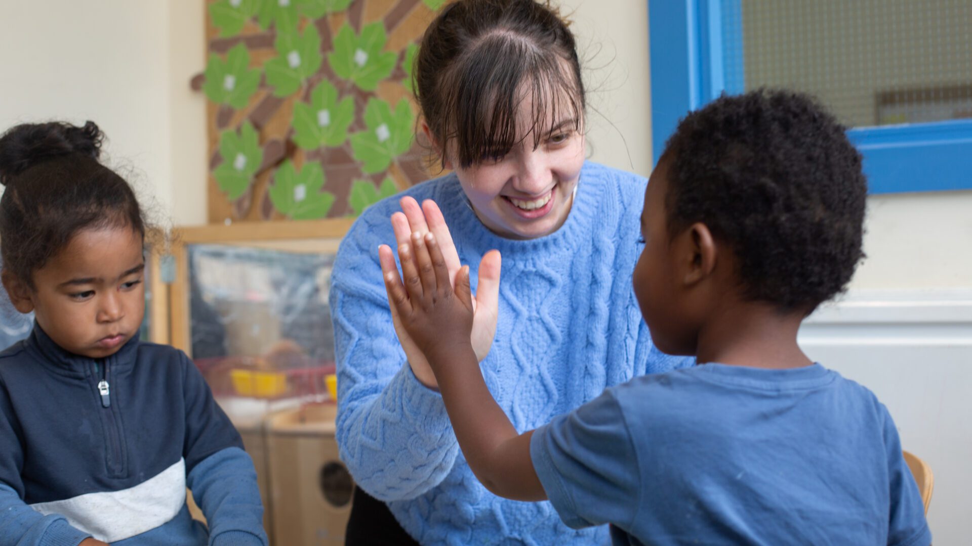
[[[415,118],[408,100],[399,100],[395,112],[385,101],[369,99],[364,108],[367,129],[351,135],[355,159],[362,161],[364,174],[379,173],[412,146],[412,123]]]

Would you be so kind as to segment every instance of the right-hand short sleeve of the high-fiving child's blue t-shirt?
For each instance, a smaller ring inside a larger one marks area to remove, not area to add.
[[[901,452],[894,420],[884,404],[885,447],[887,448],[887,478],[890,488],[890,518],[888,520],[888,546],[928,546],[931,530],[924,518],[924,503],[918,491],[915,476],[908,468]]]

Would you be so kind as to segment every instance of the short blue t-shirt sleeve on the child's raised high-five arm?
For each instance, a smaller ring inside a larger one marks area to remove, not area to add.
[[[530,457],[543,491],[568,526],[631,529],[641,476],[621,408],[608,391],[534,431]]]

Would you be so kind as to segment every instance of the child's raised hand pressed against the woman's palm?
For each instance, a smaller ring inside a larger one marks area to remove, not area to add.
[[[395,261],[387,259],[391,252],[385,245],[379,248],[379,253],[386,256],[381,263],[389,301],[405,331],[430,363],[434,355],[471,349],[469,266],[463,266],[456,274],[453,289],[448,265],[431,232],[424,236],[414,233],[410,244],[399,245],[400,279]]]

